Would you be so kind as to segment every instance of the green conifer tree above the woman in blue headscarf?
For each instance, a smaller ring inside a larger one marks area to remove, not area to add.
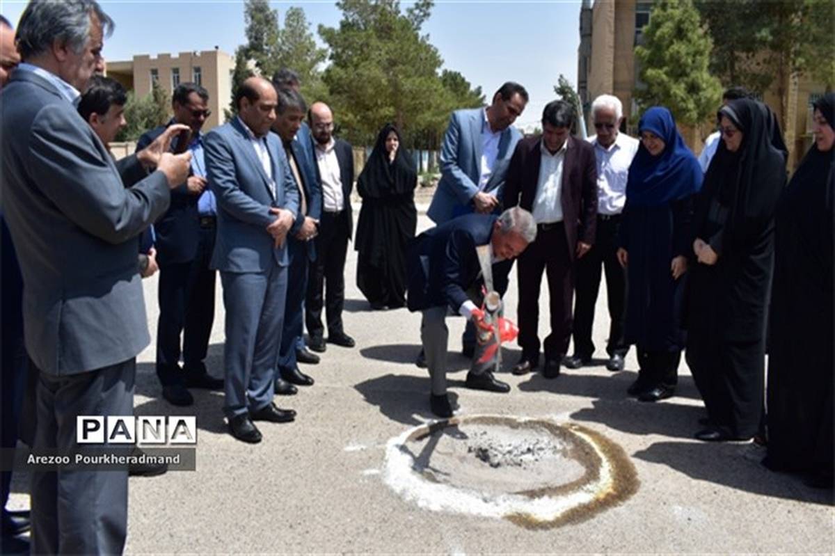
[[[635,47],[640,81],[635,99],[643,108],[660,104],[681,124],[698,126],[721,99],[721,84],[708,71],[711,37],[701,26],[692,0],[660,0]]]

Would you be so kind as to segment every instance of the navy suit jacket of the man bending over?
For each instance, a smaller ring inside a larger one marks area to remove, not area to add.
[[[430,228],[410,243],[406,255],[407,306],[409,311],[450,306],[453,311],[469,299],[467,291],[481,277],[478,245],[487,245],[493,236],[496,215],[463,215]],[[507,280],[509,261],[493,263],[493,286]],[[506,285],[505,285],[506,286]]]

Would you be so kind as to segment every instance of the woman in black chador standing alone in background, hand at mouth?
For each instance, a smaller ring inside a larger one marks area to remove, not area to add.
[[[354,248],[357,286],[374,309],[406,305],[406,244],[415,235],[417,169],[400,133],[386,124],[357,179],[362,209]]]

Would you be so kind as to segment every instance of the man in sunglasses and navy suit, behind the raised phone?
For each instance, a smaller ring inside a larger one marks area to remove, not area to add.
[[[210,261],[215,250],[217,204],[206,187],[200,133],[211,114],[209,93],[196,83],[180,83],[171,104],[174,118],[142,135],[136,149],[144,149],[171,124],[190,128],[188,136],[181,134],[172,142],[175,152],[191,153],[189,177],[171,190],[170,208],[154,224],[159,265],[156,372],[164,399],[175,406],[190,406],[194,398],[188,388],[223,387],[223,379],[211,377],[204,362],[215,320],[215,270]]]

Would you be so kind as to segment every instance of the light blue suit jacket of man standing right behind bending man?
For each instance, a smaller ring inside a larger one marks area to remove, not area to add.
[[[437,224],[473,212],[470,201],[478,193],[484,122],[484,109],[457,110],[449,119],[441,147],[441,180],[427,212],[429,218]],[[498,140],[496,164],[484,187],[485,192],[493,193],[498,200],[502,200],[504,175],[510,156],[521,137],[518,129],[509,127]]]

